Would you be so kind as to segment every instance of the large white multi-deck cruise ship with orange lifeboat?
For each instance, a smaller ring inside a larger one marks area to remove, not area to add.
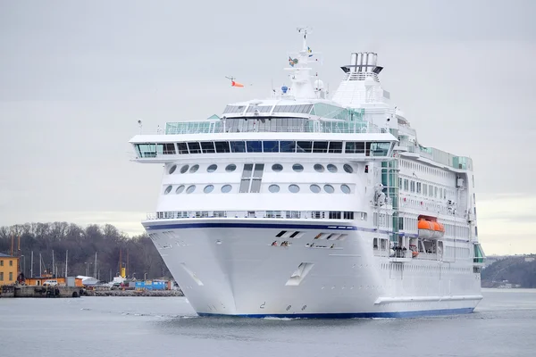
[[[173,278],[200,316],[472,312],[472,160],[421,144],[375,53],[352,53],[328,93],[298,32],[289,86],[130,139],[135,162],[163,165],[142,224]]]

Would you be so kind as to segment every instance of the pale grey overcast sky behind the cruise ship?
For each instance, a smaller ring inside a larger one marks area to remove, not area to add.
[[[162,167],[130,162],[137,120],[154,132],[264,98],[310,26],[331,91],[351,52],[377,52],[421,144],[473,158],[485,252],[536,253],[534,13],[530,0],[0,0],[0,225],[141,232]]]

